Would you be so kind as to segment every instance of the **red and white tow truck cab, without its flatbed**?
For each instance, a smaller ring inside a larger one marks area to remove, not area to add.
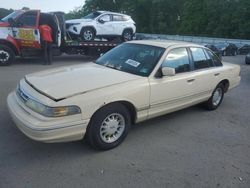
[[[52,28],[53,46],[60,47],[65,35],[62,12],[17,10],[0,20],[0,66],[10,65],[16,56],[41,55],[39,25]]]

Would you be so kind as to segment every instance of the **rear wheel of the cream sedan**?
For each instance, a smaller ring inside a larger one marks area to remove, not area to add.
[[[217,109],[224,98],[224,92],[225,92],[225,87],[223,83],[218,84],[217,87],[214,89],[212,96],[208,99],[207,102],[205,102],[206,108],[208,110]]]

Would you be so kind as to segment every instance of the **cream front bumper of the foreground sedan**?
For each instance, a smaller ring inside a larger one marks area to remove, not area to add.
[[[13,92],[9,94],[7,105],[17,127],[29,138],[42,142],[67,142],[84,137],[88,121],[63,121],[63,118],[38,118],[27,110]]]

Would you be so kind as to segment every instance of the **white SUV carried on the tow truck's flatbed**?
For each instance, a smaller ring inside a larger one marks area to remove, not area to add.
[[[129,41],[135,34],[136,26],[128,15],[96,11],[81,19],[67,20],[66,30],[71,36],[85,41],[94,40],[96,36],[107,39],[119,36],[124,41]]]

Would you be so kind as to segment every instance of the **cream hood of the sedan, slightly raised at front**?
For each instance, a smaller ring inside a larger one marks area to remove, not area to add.
[[[35,90],[53,100],[141,78],[94,63],[42,71],[25,77]]]

